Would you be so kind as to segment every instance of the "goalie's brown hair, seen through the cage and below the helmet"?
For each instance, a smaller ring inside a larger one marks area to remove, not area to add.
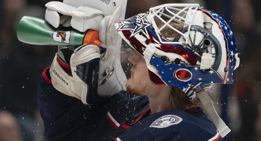
[[[158,28],[160,29],[164,24],[165,23],[160,24]],[[178,31],[180,32],[182,32],[183,30],[183,24],[180,22],[171,21],[169,25],[178,29]],[[178,32],[174,31],[169,26],[165,26],[165,28],[161,30],[161,36],[163,38],[181,37],[181,35]],[[171,91],[169,93],[169,104],[171,105],[171,107],[174,103],[178,109],[185,110],[187,108],[188,109],[193,108],[200,103],[200,100],[198,98],[194,98],[193,100],[190,100],[189,97],[179,87],[177,86],[170,86],[170,87],[171,87]]]

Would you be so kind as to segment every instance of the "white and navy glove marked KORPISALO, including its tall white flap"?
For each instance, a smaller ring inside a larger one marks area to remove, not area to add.
[[[122,38],[114,28],[114,22],[124,19],[125,0],[124,3],[113,15],[101,20],[99,38],[102,47],[85,44],[74,50],[70,57],[72,74],[66,73],[57,61],[64,58],[55,56],[50,69],[55,89],[82,100],[84,104],[94,104],[125,89],[126,76],[120,64]]]

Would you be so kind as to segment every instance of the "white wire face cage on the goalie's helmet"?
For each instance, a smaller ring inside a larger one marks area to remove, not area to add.
[[[165,44],[188,44],[191,22],[194,20],[194,14],[199,8],[199,4],[165,4],[150,8],[149,20],[152,22],[160,42]],[[192,15],[186,18],[188,12]],[[180,32],[169,24],[171,21],[182,23],[184,27],[188,26],[188,31],[186,33]],[[161,27],[159,27],[159,23],[162,23]],[[161,31],[166,26],[179,33],[184,38],[184,41],[178,42],[177,39],[174,38],[164,38],[164,36],[161,35]],[[162,38],[164,40],[162,40]]]

